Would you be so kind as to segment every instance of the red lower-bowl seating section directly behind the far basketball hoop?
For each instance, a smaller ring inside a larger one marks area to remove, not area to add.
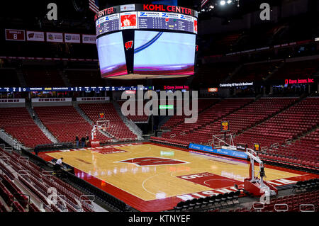
[[[112,103],[83,103],[79,107],[96,123],[99,113],[105,114],[105,120],[109,120],[110,127],[106,129],[117,140],[137,140],[138,137],[123,123]]]

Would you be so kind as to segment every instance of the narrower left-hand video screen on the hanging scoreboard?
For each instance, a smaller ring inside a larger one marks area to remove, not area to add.
[[[128,74],[122,32],[98,38],[96,45],[102,78]]]

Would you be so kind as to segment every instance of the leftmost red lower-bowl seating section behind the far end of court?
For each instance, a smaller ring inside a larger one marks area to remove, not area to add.
[[[52,142],[35,125],[26,108],[0,108],[0,128],[26,147]]]

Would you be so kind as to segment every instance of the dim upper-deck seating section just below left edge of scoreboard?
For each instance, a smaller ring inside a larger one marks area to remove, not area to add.
[[[101,78],[98,70],[65,70],[67,79],[72,86],[104,86],[105,80]]]

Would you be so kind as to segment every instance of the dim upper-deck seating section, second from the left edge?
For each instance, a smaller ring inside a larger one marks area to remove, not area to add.
[[[57,69],[25,68],[23,69],[23,76],[30,87],[43,87],[45,84],[50,84],[51,87],[65,86]]]

